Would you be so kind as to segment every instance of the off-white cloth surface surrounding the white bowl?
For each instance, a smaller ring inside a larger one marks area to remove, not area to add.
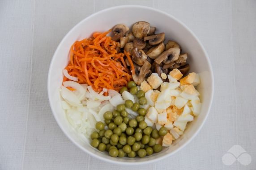
[[[136,167],[78,149],[47,99],[47,71],[64,35],[90,14],[123,4],[158,8],[186,24],[205,46],[215,78],[212,109],[195,139],[170,158]],[[256,168],[255,0],[0,0],[0,58],[0,170]],[[222,163],[235,144],[251,155],[250,165]]]

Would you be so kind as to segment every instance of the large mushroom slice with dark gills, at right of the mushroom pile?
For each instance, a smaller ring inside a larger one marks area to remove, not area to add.
[[[175,62],[179,58],[179,53],[179,48],[170,48],[169,50],[166,50],[162,54],[160,54],[158,58],[155,59],[155,62],[158,64],[161,64],[161,62],[164,62],[165,64]]]

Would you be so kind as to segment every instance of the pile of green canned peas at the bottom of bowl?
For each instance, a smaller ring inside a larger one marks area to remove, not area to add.
[[[105,112],[103,122],[97,122],[94,131],[91,133],[91,145],[99,151],[107,151],[111,157],[136,156],[143,158],[146,155],[158,153],[162,150],[162,145],[157,143],[157,139],[167,134],[167,129],[162,127],[156,130],[147,126],[144,121],[146,110],[141,105],[147,104],[144,97],[145,92],[138,90],[136,83],[130,81],[128,88],[123,87],[120,93],[128,91],[139,98],[138,103],[126,100],[124,104],[119,104],[113,112]],[[138,113],[135,119],[128,118],[125,108],[132,109]]]

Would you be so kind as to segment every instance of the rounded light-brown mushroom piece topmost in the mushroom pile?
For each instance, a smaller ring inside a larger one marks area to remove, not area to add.
[[[136,38],[146,37],[150,30],[150,24],[145,21],[136,22],[132,25],[132,33]]]

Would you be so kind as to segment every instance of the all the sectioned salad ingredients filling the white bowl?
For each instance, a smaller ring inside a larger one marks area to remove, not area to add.
[[[200,77],[156,27],[139,21],[129,30],[118,24],[74,42],[60,94],[69,123],[91,146],[143,158],[171,146],[200,114]]]

